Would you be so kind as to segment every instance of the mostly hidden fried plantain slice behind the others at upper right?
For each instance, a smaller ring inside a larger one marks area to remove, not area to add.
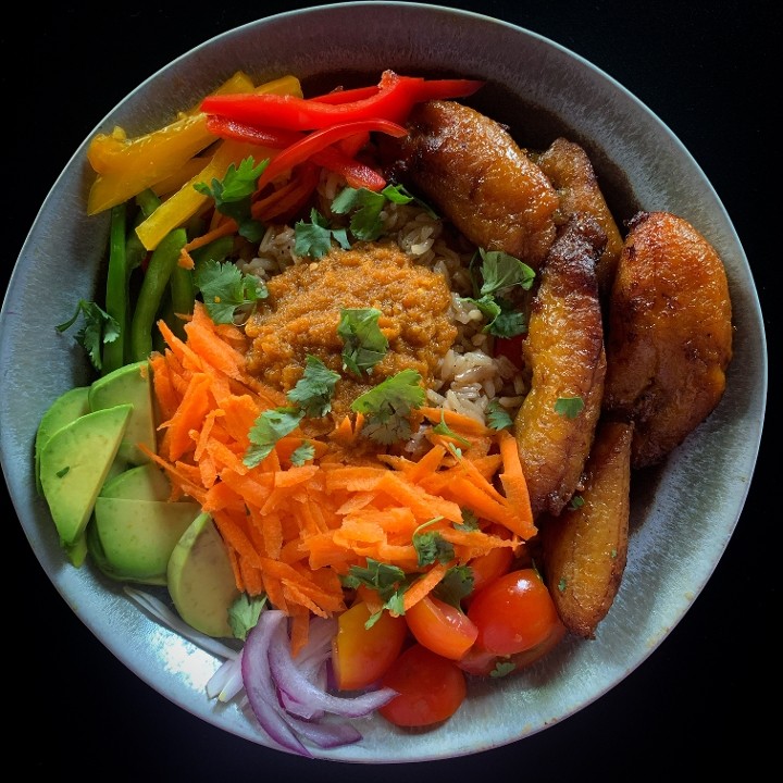
[[[531,160],[549,177],[560,197],[555,222],[562,224],[575,212],[592,214],[607,235],[604,252],[596,263],[598,289],[607,295],[614,279],[623,238],[607,206],[593,163],[584,148],[566,138],[556,138],[544,152],[530,154]]]

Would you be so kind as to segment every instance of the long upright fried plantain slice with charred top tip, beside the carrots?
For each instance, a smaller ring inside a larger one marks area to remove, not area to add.
[[[593,443],[606,374],[595,274],[605,243],[594,217],[571,217],[547,256],[533,300],[523,343],[531,390],[514,419],[514,435],[534,515],[560,513]],[[561,412],[563,400],[582,409]]]

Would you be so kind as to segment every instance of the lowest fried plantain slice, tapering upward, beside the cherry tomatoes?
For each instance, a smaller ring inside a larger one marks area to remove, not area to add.
[[[573,634],[595,638],[627,557],[633,424],[601,420],[585,465],[583,504],[544,515],[539,536],[549,593]]]

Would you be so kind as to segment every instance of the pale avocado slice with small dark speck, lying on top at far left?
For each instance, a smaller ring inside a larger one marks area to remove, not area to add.
[[[41,450],[44,497],[66,549],[87,526],[132,411],[126,403],[86,413],[53,433]]]

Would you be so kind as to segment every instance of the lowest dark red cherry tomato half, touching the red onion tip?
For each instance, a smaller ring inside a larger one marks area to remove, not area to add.
[[[378,712],[399,726],[424,726],[450,718],[468,691],[464,672],[423,645],[405,649],[382,679],[399,696]]]

